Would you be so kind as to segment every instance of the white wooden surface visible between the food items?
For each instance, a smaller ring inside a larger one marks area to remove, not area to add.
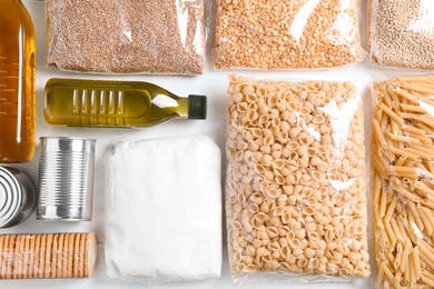
[[[226,104],[226,89],[227,89],[227,74],[240,73],[246,77],[266,78],[266,79],[290,79],[290,80],[304,80],[304,79],[323,79],[323,80],[351,80],[355,81],[361,88],[361,93],[364,93],[365,98],[365,111],[366,119],[371,117],[369,110],[369,96],[368,84],[375,80],[383,80],[391,76],[398,73],[415,73],[417,71],[407,70],[393,70],[393,69],[379,69],[371,63],[357,63],[341,69],[329,71],[279,71],[279,72],[247,72],[247,71],[209,71],[200,77],[187,78],[187,77],[161,77],[161,76],[134,76],[134,77],[120,77],[120,76],[90,76],[90,74],[77,74],[66,73],[57,71],[56,69],[48,69],[45,66],[46,43],[45,43],[45,19],[43,19],[43,1],[24,0],[24,4],[28,7],[29,12],[33,17],[33,22],[37,31],[37,137],[39,143],[39,137],[42,136],[71,136],[71,137],[89,137],[97,139],[97,173],[96,173],[96,191],[95,191],[95,207],[93,207],[93,220],[91,222],[82,223],[67,223],[67,222],[43,222],[36,221],[34,215],[30,217],[26,222],[11,228],[0,230],[0,233],[13,233],[13,232],[62,232],[62,231],[88,231],[93,230],[98,232],[100,242],[103,241],[103,153],[109,142],[121,137],[177,137],[188,136],[194,133],[206,133],[214,138],[224,151],[225,141],[225,104]],[[362,1],[364,2],[364,1]],[[365,27],[364,19],[362,18],[361,27]],[[211,29],[213,30],[213,29]],[[362,33],[365,33],[365,29]],[[208,50],[208,58],[209,58]],[[141,80],[150,81],[156,84],[160,84],[166,89],[180,94],[187,96],[189,93],[206,94],[208,96],[208,119],[206,121],[188,121],[188,120],[174,120],[152,128],[142,130],[120,130],[120,129],[83,129],[83,128],[63,128],[51,127],[43,121],[42,113],[42,93],[46,81],[52,77],[63,78],[89,78],[89,79],[120,79],[120,80]],[[366,121],[366,128],[368,128],[369,121]],[[369,130],[367,130],[367,136]],[[38,173],[38,158],[39,147],[34,155],[34,160],[30,163],[14,166],[23,169],[30,175],[33,181],[37,180]],[[225,168],[225,167],[223,167]],[[369,233],[372,231],[369,230]],[[146,240],[144,240],[146,241]],[[371,256],[373,248],[371,247]],[[23,281],[0,281],[0,288],[53,288],[61,286],[62,288],[95,288],[95,287],[109,287],[109,288],[135,288],[144,287],[144,285],[115,282],[106,277],[103,265],[102,245],[99,246],[99,258],[97,273],[95,277],[85,280],[23,280]],[[194,283],[170,283],[159,286],[161,288],[231,288],[231,279],[229,277],[229,269],[227,266],[227,253],[224,250],[224,269],[223,278],[218,280],[211,280],[206,282]],[[150,286],[148,288],[159,288],[157,286]],[[239,288],[264,288],[264,285],[249,285],[239,286]],[[354,285],[267,285],[272,288],[355,288]],[[371,286],[362,286],[358,288],[368,288]]]

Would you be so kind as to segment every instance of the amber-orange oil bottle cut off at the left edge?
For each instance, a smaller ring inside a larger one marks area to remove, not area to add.
[[[31,161],[36,143],[34,29],[20,0],[0,0],[0,162]]]

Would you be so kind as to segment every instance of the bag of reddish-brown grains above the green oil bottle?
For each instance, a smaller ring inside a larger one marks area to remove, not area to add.
[[[205,1],[47,0],[47,62],[81,72],[200,74]]]

